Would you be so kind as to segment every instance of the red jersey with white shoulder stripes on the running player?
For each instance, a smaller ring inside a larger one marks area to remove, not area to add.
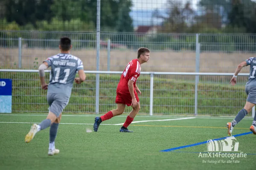
[[[133,83],[133,89],[134,92],[135,91],[135,84],[136,84],[136,80],[138,79],[138,77],[140,76],[141,73],[141,64],[140,62],[138,62],[138,59],[132,59],[132,61],[130,61],[126,68],[124,69],[123,74],[121,75],[120,81],[118,83],[118,88],[117,88],[117,92],[121,93],[121,94],[129,94],[129,88],[128,88],[128,81],[129,79],[132,80]]]

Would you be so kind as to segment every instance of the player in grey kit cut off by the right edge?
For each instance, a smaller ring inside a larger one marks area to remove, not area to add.
[[[241,62],[238,67],[235,70],[235,74],[230,80],[231,85],[236,84],[236,77],[238,73],[241,71],[241,69],[247,65],[250,65],[250,75],[249,79],[245,85],[245,92],[247,94],[247,100],[245,103],[244,108],[238,112],[237,116],[232,122],[227,123],[227,133],[229,136],[232,136],[233,128],[235,127],[238,122],[240,122],[244,116],[247,115],[253,108],[253,106],[256,105],[256,57],[251,57],[249,59],[244,60],[244,62]],[[250,130],[253,132],[253,134],[256,135],[256,114],[253,119],[253,123],[250,126]]]

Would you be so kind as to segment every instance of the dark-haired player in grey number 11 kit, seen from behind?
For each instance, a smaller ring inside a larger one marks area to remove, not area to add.
[[[73,87],[73,82],[80,84],[85,81],[85,73],[81,59],[70,54],[72,48],[71,40],[68,37],[60,39],[60,54],[49,57],[38,68],[41,81],[41,88],[47,90],[47,102],[49,104],[49,113],[39,125],[33,124],[29,133],[25,137],[25,142],[30,142],[35,134],[50,127],[50,142],[48,155],[58,154],[59,150],[55,148],[55,138],[62,111],[68,105]],[[49,85],[45,83],[44,70],[51,67]],[[76,77],[78,71],[79,78]]]

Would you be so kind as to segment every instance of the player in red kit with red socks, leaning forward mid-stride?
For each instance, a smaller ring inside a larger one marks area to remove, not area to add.
[[[94,132],[97,132],[101,122],[111,119],[114,116],[123,114],[126,105],[132,106],[132,111],[127,116],[124,125],[119,131],[133,132],[128,130],[127,127],[132,123],[133,119],[141,108],[138,99],[138,94],[141,95],[141,91],[136,85],[136,80],[141,73],[141,64],[148,62],[150,59],[149,53],[149,49],[141,47],[138,49],[137,59],[132,59],[132,61],[127,64],[116,89],[115,102],[117,103],[118,108],[109,111],[103,116],[95,117],[95,122],[93,125]]]

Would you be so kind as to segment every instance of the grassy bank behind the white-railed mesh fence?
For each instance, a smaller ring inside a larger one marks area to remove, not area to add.
[[[47,111],[47,91],[40,88],[38,73],[4,73],[1,78],[13,80],[12,111]],[[49,79],[49,74],[46,74]],[[87,74],[87,80],[81,85],[74,84],[69,105],[64,112],[95,113],[95,74]],[[115,96],[120,75],[100,75],[100,113],[106,113],[116,107]],[[239,84],[229,85],[230,77],[200,76],[198,85],[198,114],[236,115],[244,107],[246,94],[244,85],[247,77],[239,77]],[[137,81],[141,89],[140,113],[150,110],[150,76],[141,75]],[[153,113],[156,114],[193,114],[194,113],[194,76],[154,77]],[[129,112],[126,108],[125,113]],[[249,113],[250,114],[250,113]]]

